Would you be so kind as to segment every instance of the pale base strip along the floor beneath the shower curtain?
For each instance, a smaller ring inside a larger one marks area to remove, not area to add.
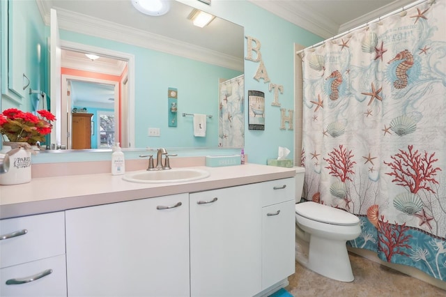
[[[428,284],[431,284],[435,287],[446,290],[446,282],[444,282],[443,280],[438,280],[435,277],[431,277],[431,276],[427,275],[426,273],[420,271],[417,268],[406,266],[406,265],[401,265],[401,264],[385,262],[378,258],[378,255],[376,254],[376,252],[372,252],[371,250],[364,250],[364,249],[360,249],[360,248],[351,248],[351,247],[347,247],[347,250],[349,252],[353,252],[354,254],[357,254],[361,257],[364,257],[366,259],[374,261],[378,264],[392,268],[396,271],[399,271],[401,273],[404,273],[406,275],[414,277],[418,280],[427,282]]]

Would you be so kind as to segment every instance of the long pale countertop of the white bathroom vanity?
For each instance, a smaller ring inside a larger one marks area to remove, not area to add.
[[[295,169],[246,164],[229,167],[194,167],[210,172],[208,178],[185,183],[132,183],[112,174],[82,174],[33,178],[21,185],[0,185],[0,219],[134,199],[259,183],[295,176]]]

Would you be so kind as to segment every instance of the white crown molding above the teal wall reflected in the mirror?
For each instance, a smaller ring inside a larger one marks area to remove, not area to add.
[[[42,3],[40,5],[40,3]],[[45,1],[38,1],[38,7],[42,19],[49,26],[49,7]],[[183,56],[204,63],[210,63],[233,70],[243,71],[244,61],[227,54],[208,50],[204,47],[184,43],[179,40],[167,38],[147,31],[123,26],[114,22],[108,22],[88,15],[73,13],[69,10],[58,9],[57,17],[59,29],[82,33],[89,36],[114,40],[119,43],[128,43],[138,47],[166,52],[176,56]]]

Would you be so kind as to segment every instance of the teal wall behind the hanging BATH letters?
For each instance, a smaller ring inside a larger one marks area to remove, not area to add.
[[[194,5],[194,1],[180,1]],[[200,6],[203,9],[206,5]],[[209,9],[209,8],[206,8]],[[271,106],[273,93],[268,90],[268,83],[254,79],[259,63],[245,60],[245,106],[247,91],[256,90],[265,93],[265,130],[247,130],[245,125],[245,153],[249,162],[266,164],[266,160],[277,158],[277,148],[287,147],[293,158],[294,130],[280,130],[280,108],[294,109],[294,43],[304,46],[314,45],[322,38],[283,20],[249,1],[213,1],[210,12],[226,20],[245,27],[245,36],[251,36],[261,42],[261,57],[268,71],[270,82],[284,86],[284,93],[279,95],[281,107]],[[245,56],[246,43],[245,43]],[[255,57],[255,54],[254,54]],[[247,117],[245,117],[247,123]]]

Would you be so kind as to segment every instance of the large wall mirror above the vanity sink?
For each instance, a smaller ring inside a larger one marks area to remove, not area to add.
[[[215,17],[199,28],[189,17],[194,8],[174,0],[157,17],[140,13],[130,0],[36,2],[48,26],[50,10],[57,13],[61,100],[51,100],[61,110],[58,137],[67,139],[61,144],[72,147],[72,110],[86,109],[95,119],[91,148],[118,141],[131,148],[219,146],[220,82],[243,75],[242,26]],[[172,88],[178,90],[174,127],[168,123]],[[194,137],[192,116],[183,113],[212,116],[206,137]],[[114,116],[110,133],[105,125]],[[149,128],[159,128],[160,136],[149,136]]]

